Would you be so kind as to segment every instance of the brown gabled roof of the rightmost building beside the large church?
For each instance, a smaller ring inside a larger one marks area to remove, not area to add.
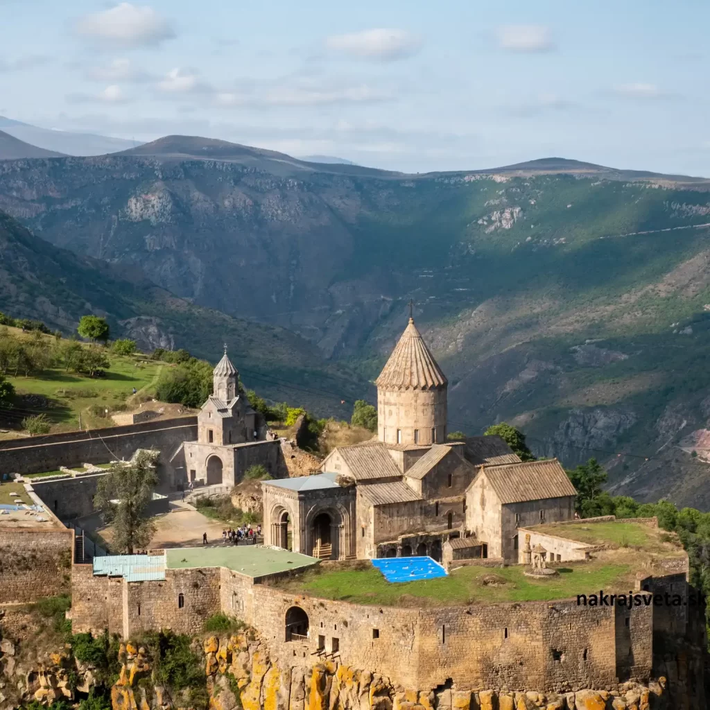
[[[486,476],[503,504],[577,495],[572,481],[557,459],[508,466],[482,466],[481,475]]]

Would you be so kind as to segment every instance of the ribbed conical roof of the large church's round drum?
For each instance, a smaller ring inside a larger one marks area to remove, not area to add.
[[[447,386],[447,378],[427,348],[413,318],[409,319],[375,384],[386,390],[429,390]]]

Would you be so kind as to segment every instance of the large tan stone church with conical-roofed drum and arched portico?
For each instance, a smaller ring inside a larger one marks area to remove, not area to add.
[[[447,441],[448,381],[412,318],[375,383],[376,438],[334,449],[320,474],[263,482],[267,544],[439,560],[453,544],[518,562],[519,527],[572,519],[576,491],[557,460],[523,463],[494,436]]]

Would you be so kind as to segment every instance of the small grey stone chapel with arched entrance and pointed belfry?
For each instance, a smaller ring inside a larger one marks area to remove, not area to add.
[[[187,481],[234,486],[251,462],[265,465],[273,474],[278,446],[278,442],[266,441],[264,423],[239,393],[239,372],[225,346],[224,356],[214,368],[212,395],[197,415],[197,440],[185,442],[183,447]],[[252,448],[244,451],[245,447]]]

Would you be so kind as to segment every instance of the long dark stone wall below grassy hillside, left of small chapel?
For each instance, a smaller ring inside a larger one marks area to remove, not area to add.
[[[0,441],[0,470],[31,474],[53,471],[60,466],[128,460],[136,449],[159,449],[158,470],[162,482],[174,486],[175,466],[169,459],[182,442],[196,437],[197,417],[177,417],[89,432],[7,439]]]

